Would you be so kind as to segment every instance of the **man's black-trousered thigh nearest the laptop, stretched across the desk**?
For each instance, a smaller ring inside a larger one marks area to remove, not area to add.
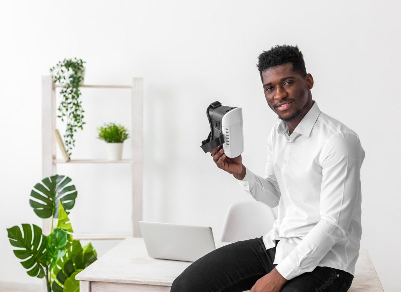
[[[217,248],[188,266],[173,282],[171,292],[233,292],[249,290],[271,271],[275,248],[262,238],[237,241]]]

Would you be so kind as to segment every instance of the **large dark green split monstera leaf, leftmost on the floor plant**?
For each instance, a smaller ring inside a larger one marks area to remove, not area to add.
[[[28,269],[27,274],[31,277],[43,278],[45,276],[43,267],[46,266],[46,236],[42,229],[36,225],[21,224],[20,227],[13,226],[7,229],[10,244],[18,247],[13,252],[21,261],[24,268]]]

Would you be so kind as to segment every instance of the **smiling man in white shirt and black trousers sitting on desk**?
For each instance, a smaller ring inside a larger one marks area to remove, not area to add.
[[[260,238],[192,263],[171,291],[345,292],[359,254],[365,152],[354,131],[312,100],[313,77],[297,46],[263,52],[258,69],[267,104],[279,117],[268,136],[264,177],[220,146],[211,155],[256,200],[278,206],[278,218]]]

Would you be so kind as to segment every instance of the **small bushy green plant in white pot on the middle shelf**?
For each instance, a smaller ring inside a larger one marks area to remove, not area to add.
[[[121,160],[124,140],[129,138],[128,130],[115,123],[104,124],[98,128],[98,139],[107,142],[107,158]]]

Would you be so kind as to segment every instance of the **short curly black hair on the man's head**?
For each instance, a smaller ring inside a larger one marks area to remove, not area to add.
[[[298,46],[290,45],[276,45],[269,51],[264,51],[259,54],[259,62],[256,66],[259,69],[260,78],[262,79],[262,72],[285,63],[292,63],[292,70],[305,78],[306,68],[302,52],[299,51]],[[263,79],[262,79],[263,81]]]

